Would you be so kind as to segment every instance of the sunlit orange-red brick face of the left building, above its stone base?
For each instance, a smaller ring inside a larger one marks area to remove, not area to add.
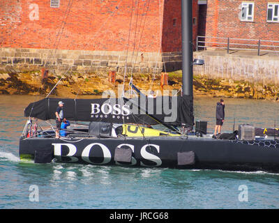
[[[68,0],[59,8],[50,8],[50,0],[1,1],[1,47],[124,51],[131,28],[132,51],[144,28],[140,51],[158,52],[158,3],[134,2],[130,25],[130,0]]]

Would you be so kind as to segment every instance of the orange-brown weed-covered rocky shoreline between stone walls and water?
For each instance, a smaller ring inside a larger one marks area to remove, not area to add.
[[[102,95],[106,90],[111,89],[116,92],[119,84],[125,85],[128,91],[130,75],[123,82],[123,75],[116,74],[114,83],[109,82],[107,73],[81,73],[70,72],[67,75],[48,75],[43,82],[41,71],[32,72],[11,71],[0,73],[0,94],[6,95],[47,95],[59,82],[52,95],[62,98],[72,98],[75,95]],[[147,91],[162,91],[181,89],[181,71],[170,72],[168,75],[168,85],[160,86],[160,75],[134,74],[133,84],[139,89]],[[257,100],[279,99],[279,86],[263,83],[250,83],[235,81],[233,79],[211,79],[202,75],[194,76],[194,95],[223,98],[250,98]]]

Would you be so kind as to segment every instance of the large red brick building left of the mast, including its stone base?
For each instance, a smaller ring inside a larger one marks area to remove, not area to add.
[[[193,18],[195,40],[197,0]],[[181,0],[1,0],[0,58],[29,69],[179,70]]]

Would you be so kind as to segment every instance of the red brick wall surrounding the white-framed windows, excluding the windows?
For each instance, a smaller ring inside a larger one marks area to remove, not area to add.
[[[254,20],[252,22],[243,22],[240,20],[242,2],[254,3]],[[207,0],[206,36],[278,41],[279,23],[266,22],[268,2],[279,3],[278,0]],[[220,39],[211,39],[208,41],[224,42]],[[246,43],[257,44],[255,42]],[[278,45],[278,43],[272,44]]]

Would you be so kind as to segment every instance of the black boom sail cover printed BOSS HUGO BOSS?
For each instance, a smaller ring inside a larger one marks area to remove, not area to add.
[[[108,123],[158,124],[193,126],[193,96],[157,98],[45,98],[32,102],[24,109],[24,116],[40,120],[55,119],[58,102],[64,102],[64,118],[69,121],[103,121]]]

